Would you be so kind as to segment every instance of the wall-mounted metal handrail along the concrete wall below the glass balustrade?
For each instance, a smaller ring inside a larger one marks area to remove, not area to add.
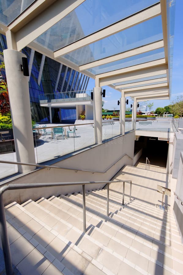
[[[50,170],[50,168],[55,168],[55,169],[62,169],[62,170],[70,170],[70,171],[75,171],[77,173],[77,171],[82,171],[82,172],[90,172],[90,173],[106,173],[111,167],[113,167],[119,160],[121,160],[124,156],[128,156],[129,158],[131,158],[129,155],[124,154],[122,157],[120,157],[118,160],[116,160],[113,164],[111,164],[105,171],[101,172],[101,171],[90,171],[90,170],[83,170],[83,169],[74,169],[74,168],[64,168],[64,167],[58,167],[58,166],[51,166],[51,165],[42,165],[42,164],[37,164],[37,163],[24,163],[24,162],[16,162],[16,161],[8,161],[8,160],[0,160],[0,163],[8,163],[8,164],[17,164],[17,165],[26,165],[26,166],[36,166],[36,167],[42,167],[42,168],[48,168],[48,170]],[[131,160],[133,160],[131,158]]]

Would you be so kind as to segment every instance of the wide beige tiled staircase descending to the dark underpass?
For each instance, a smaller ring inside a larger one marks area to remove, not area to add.
[[[183,246],[172,205],[168,213],[155,206],[161,198],[156,183],[169,184],[167,175],[165,180],[165,174],[126,166],[115,176],[124,177],[132,179],[132,200],[125,183],[123,206],[122,184],[112,183],[109,217],[107,190],[86,192],[85,234],[80,193],[6,206],[12,261],[20,273],[182,274]]]

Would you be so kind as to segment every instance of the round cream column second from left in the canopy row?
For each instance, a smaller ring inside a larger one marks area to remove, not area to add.
[[[95,123],[95,143],[102,143],[102,88],[93,88],[93,109]]]

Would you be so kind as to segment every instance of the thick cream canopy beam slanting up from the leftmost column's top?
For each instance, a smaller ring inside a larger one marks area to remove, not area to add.
[[[21,19],[19,17],[9,26],[9,30],[15,32],[17,50],[20,51],[23,49],[27,44],[47,31],[84,1],[85,0],[37,1],[39,2],[37,9],[32,5],[20,16]],[[41,5],[43,2],[49,5],[46,9],[44,5]]]

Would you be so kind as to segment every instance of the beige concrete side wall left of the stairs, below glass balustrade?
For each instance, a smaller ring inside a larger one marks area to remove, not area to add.
[[[133,159],[135,131],[130,132],[118,138],[114,138],[106,143],[96,145],[91,149],[78,154],[74,153],[72,157],[54,163],[54,166],[83,169],[90,171],[105,171],[110,165],[117,161],[124,154],[128,154]],[[128,156],[123,157],[106,173],[94,173],[68,170],[58,170],[47,168],[36,170],[30,174],[14,180],[14,183],[40,183],[40,182],[84,182],[84,181],[108,181],[110,180],[125,164],[133,165],[133,160]],[[86,190],[103,187],[103,184],[86,185]],[[4,203],[24,202],[28,199],[37,200],[40,197],[49,197],[52,195],[73,193],[81,191],[79,185],[65,187],[48,187],[36,189],[22,189],[6,191],[3,194]]]

